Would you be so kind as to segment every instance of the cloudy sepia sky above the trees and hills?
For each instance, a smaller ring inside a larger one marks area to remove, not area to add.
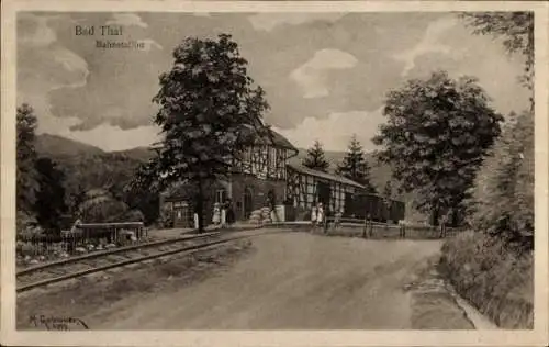
[[[102,25],[122,35],[101,36]],[[93,35],[76,27],[94,26]],[[18,104],[35,109],[38,133],[104,150],[158,141],[152,119],[158,76],[186,37],[227,33],[266,90],[266,123],[298,147],[321,141],[345,150],[352,134],[366,150],[384,122],[389,90],[445,69],[474,76],[507,114],[528,107],[517,83],[520,56],[477,36],[451,13],[20,13]],[[96,41],[138,42],[98,48]]]

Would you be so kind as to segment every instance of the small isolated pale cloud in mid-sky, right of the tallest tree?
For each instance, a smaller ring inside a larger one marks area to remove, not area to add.
[[[309,61],[293,70],[290,78],[303,89],[304,98],[322,98],[329,94],[326,86],[327,71],[350,69],[357,63],[357,58],[349,53],[339,49],[321,49]]]

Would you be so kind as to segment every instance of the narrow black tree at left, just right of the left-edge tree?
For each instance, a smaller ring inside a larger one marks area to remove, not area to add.
[[[65,203],[65,175],[49,158],[36,160],[38,190],[34,211],[38,224],[49,232],[59,232],[61,216],[67,212]]]

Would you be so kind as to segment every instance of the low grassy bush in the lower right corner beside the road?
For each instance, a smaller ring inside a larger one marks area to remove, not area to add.
[[[502,328],[533,328],[534,257],[506,242],[467,232],[442,246],[441,272],[458,293]]]

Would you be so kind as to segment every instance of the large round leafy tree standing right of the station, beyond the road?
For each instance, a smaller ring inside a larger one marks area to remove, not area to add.
[[[428,79],[410,80],[388,93],[373,137],[379,160],[390,163],[405,192],[416,192],[416,208],[439,214],[452,212],[453,224],[486,150],[501,133],[503,117],[474,78],[450,79],[436,71]]]

